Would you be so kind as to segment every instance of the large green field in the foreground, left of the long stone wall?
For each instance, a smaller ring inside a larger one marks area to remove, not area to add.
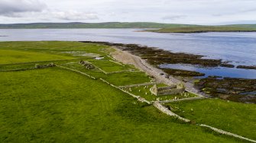
[[[0,142],[234,142],[73,71],[0,72]]]

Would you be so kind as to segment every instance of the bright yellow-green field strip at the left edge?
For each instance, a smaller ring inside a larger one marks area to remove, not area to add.
[[[0,64],[45,61],[45,60],[56,60],[56,59],[72,59],[72,57],[58,56],[58,55],[52,55],[47,53],[0,49]]]

